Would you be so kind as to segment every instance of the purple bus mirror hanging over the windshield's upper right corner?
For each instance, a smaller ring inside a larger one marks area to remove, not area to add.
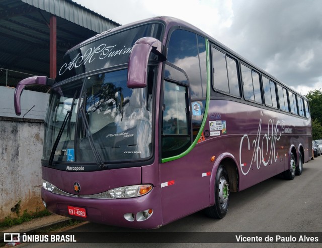
[[[162,43],[152,37],[138,39],[129,57],[127,72],[127,87],[130,89],[144,88],[147,84],[147,61],[150,52],[159,56],[160,61],[167,59],[167,49]]]

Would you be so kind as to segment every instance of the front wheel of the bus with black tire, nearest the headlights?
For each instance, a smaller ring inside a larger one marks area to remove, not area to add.
[[[205,209],[209,217],[222,219],[226,215],[229,205],[228,183],[227,171],[223,165],[219,165],[215,180],[215,204]]]

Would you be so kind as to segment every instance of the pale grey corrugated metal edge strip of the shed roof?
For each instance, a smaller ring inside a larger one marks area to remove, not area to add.
[[[70,0],[21,0],[55,16],[93,30],[97,33],[116,28],[118,23],[105,18]]]

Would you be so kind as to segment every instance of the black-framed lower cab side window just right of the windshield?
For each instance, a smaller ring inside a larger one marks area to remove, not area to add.
[[[164,82],[162,158],[179,155],[191,144],[188,122],[188,88]]]

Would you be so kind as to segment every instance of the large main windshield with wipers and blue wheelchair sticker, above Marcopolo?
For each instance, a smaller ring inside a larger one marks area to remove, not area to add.
[[[123,69],[52,88],[43,159],[96,163],[95,152],[106,163],[149,158],[152,81],[129,89]]]

